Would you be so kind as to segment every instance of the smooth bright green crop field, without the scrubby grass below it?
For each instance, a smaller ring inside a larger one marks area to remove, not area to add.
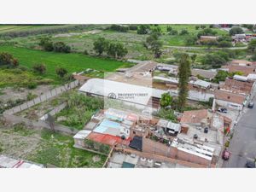
[[[32,68],[36,63],[44,63],[46,73],[43,77],[55,79],[55,81],[59,81],[55,73],[57,67],[66,68],[69,73],[81,72],[86,68],[101,70],[103,72],[113,72],[119,67],[131,65],[128,62],[96,58],[83,54],[63,54],[15,46],[0,46],[0,52],[8,52],[14,55],[19,60],[20,66]]]

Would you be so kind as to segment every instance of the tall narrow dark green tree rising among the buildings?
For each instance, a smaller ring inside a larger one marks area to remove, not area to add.
[[[183,108],[187,102],[187,96],[189,94],[189,77],[191,74],[189,55],[183,54],[179,61],[178,67],[178,100],[177,105],[179,111],[183,112]]]

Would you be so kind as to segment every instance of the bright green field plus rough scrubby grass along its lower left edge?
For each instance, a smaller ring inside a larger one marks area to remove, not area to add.
[[[61,79],[57,77],[55,69],[64,67],[68,73],[81,72],[87,68],[101,70],[102,72],[113,72],[119,67],[130,67],[131,63],[123,61],[114,61],[105,58],[96,58],[89,55],[77,53],[55,53],[42,50],[26,49],[15,46],[0,46],[0,52],[8,52],[14,55],[20,62],[20,66],[32,68],[34,64],[44,63],[46,73],[34,75],[31,72],[19,72],[20,75],[13,75],[13,71],[0,69],[1,86],[11,84],[26,84],[32,80],[52,79],[55,84],[60,84]],[[7,76],[9,79],[6,79]],[[19,79],[22,79],[19,81]]]

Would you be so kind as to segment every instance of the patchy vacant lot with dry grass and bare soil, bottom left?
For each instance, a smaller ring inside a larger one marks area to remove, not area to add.
[[[106,156],[73,148],[73,137],[18,124],[0,126],[0,154],[55,167],[102,167]]]

